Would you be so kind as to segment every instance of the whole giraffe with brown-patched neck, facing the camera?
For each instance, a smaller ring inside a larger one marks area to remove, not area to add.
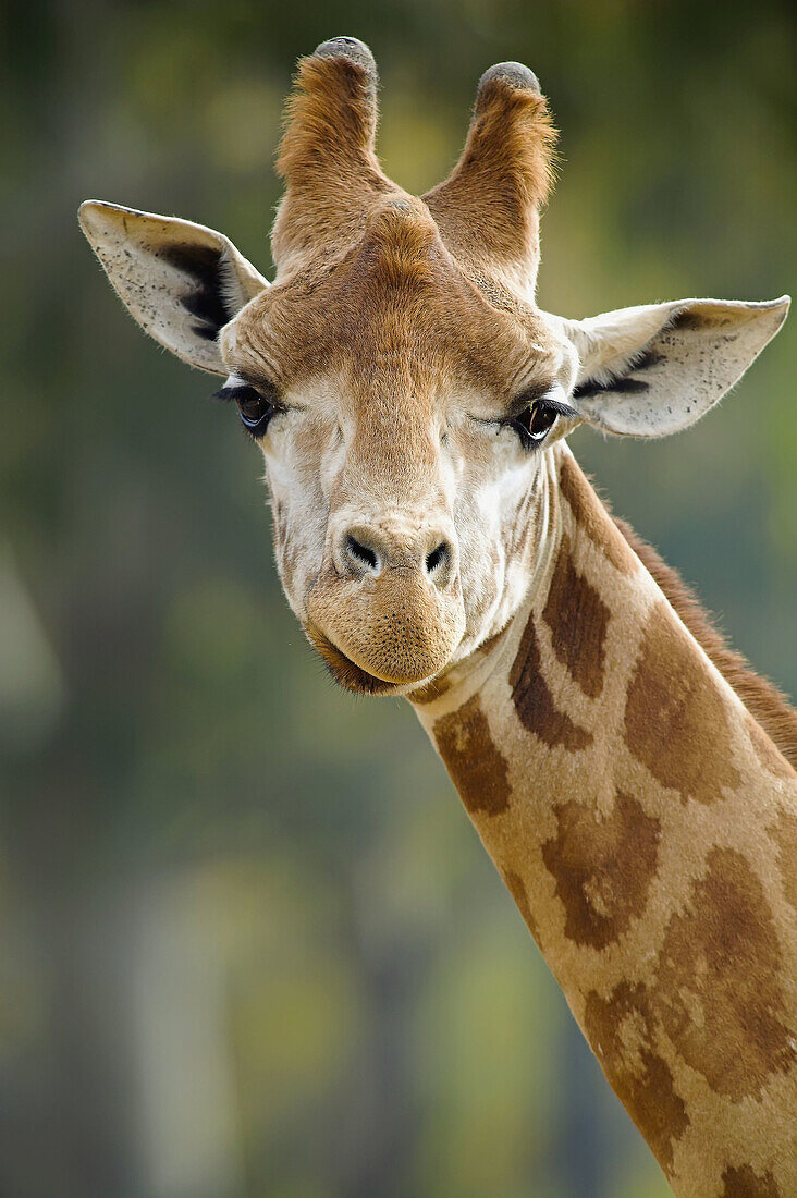
[[[192,222],[86,201],[81,226],[135,320],[225,379],[306,635],[413,704],[672,1191],[795,1196],[797,713],[567,441],[688,428],[789,298],[542,311],[536,77],[482,77],[423,198],[378,162],[376,86],[355,38],[300,62],[271,284]]]

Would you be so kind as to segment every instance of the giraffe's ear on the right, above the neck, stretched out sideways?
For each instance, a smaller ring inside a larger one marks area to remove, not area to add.
[[[789,311],[790,298],[680,300],[568,321],[579,353],[573,406],[618,436],[664,437],[714,406]]]

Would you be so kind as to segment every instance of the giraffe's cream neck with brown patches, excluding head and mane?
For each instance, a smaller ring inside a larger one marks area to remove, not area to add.
[[[675,1192],[786,1198],[797,774],[550,456],[524,607],[416,710]]]

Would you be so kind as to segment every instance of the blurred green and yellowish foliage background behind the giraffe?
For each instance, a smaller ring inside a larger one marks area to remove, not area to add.
[[[372,46],[381,155],[447,173],[476,80],[538,72],[563,315],[771,298],[797,266],[793,8],[14,4],[0,38],[0,1193],[658,1198],[406,704],[333,688],[258,452],[122,311],[87,196],[264,271],[296,58]],[[698,429],[574,449],[797,690],[797,322]]]

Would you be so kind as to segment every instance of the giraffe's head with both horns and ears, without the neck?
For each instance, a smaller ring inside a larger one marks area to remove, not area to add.
[[[80,220],[146,332],[225,377],[265,458],[289,603],[338,680],[384,694],[463,660],[518,609],[557,441],[581,422],[688,426],[787,300],[541,311],[555,133],[535,75],[505,62],[482,77],[463,155],[422,199],[379,165],[376,85],[354,38],[300,63],[271,284],[201,225],[97,201]]]

